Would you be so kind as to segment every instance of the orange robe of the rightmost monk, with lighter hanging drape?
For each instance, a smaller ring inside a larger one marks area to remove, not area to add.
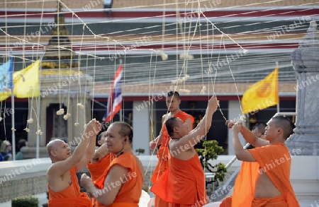
[[[245,167],[248,172],[242,172],[238,175],[232,206],[259,206],[262,203],[267,203],[267,206],[285,206],[288,203],[288,206],[298,207],[299,203],[290,183],[291,156],[288,148],[283,143],[274,143],[269,146],[253,148],[249,151],[257,162],[252,163],[250,170],[249,167]],[[283,197],[254,199],[257,177],[262,173],[267,173],[269,179],[281,191]]]

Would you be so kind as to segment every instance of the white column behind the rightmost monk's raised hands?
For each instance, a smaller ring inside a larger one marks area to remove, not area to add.
[[[228,102],[228,120],[240,120],[240,116],[242,116],[242,111],[240,110],[240,102],[238,100],[230,100]],[[245,122],[243,122],[243,124],[245,124]],[[242,138],[241,134],[239,134],[239,137],[242,146],[245,146],[247,142],[244,138]],[[228,129],[228,155],[235,155],[231,129]]]

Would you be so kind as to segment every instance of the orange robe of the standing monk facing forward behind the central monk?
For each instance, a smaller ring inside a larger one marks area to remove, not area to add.
[[[181,121],[185,122],[187,118],[191,119],[191,127],[193,128],[193,123],[194,123],[194,117],[191,115],[179,111],[177,114],[174,115],[174,117],[179,117]],[[167,129],[165,126],[165,123],[162,125],[162,144],[159,147],[159,150],[157,151],[157,158],[158,162],[155,167],[155,170],[153,172],[153,175],[151,177],[152,183],[155,184],[157,179],[161,177],[161,175],[165,172],[165,170],[168,168],[168,158],[169,158],[169,148],[168,148],[168,143],[171,140],[169,138],[169,135],[167,133]]]

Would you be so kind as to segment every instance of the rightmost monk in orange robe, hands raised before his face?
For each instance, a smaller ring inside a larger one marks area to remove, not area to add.
[[[273,117],[267,124],[264,133],[267,140],[247,132],[241,123],[233,126],[233,147],[237,159],[256,162],[259,170],[248,180],[239,178],[252,191],[245,192],[250,194],[250,199],[238,193],[236,198],[233,197],[232,206],[299,206],[290,183],[291,156],[284,145],[294,126],[286,117]],[[256,148],[244,150],[238,138],[239,132]]]

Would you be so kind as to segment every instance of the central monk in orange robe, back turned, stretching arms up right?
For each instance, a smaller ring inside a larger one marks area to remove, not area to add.
[[[165,123],[171,138],[169,168],[150,190],[167,202],[166,206],[199,207],[207,203],[205,175],[194,146],[211,128],[213,113],[217,107],[218,100],[211,97],[205,116],[192,131],[177,117],[171,117]]]

